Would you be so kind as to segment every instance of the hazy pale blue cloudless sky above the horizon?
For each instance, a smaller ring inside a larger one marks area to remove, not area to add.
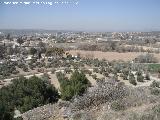
[[[0,29],[160,30],[160,0],[79,0],[78,5],[52,6],[1,3]]]

